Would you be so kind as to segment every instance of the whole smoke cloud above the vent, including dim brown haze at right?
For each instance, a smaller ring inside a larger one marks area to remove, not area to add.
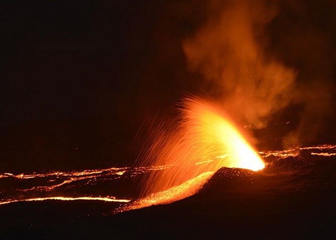
[[[202,88],[239,122],[265,128],[274,114],[301,106],[299,123],[283,137],[285,147],[312,142],[332,114],[335,45],[329,21],[335,19],[330,10],[318,14],[315,5],[209,1],[204,23],[183,41],[189,69],[204,77]],[[321,11],[328,7],[335,9],[324,1]]]

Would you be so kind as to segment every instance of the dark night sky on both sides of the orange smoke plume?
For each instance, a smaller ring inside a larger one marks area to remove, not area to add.
[[[299,69],[299,82],[320,79],[333,96],[335,5],[306,2],[280,3],[267,25],[270,52]],[[206,22],[204,5],[2,1],[0,172],[131,165],[147,118],[169,111],[183,91],[207,93],[182,49]],[[304,112],[298,105],[291,111]]]

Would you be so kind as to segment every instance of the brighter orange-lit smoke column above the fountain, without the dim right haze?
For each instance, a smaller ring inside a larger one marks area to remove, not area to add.
[[[262,1],[212,1],[208,22],[183,47],[189,67],[223,97],[231,115],[256,128],[290,103],[296,72],[266,54],[265,26],[277,14]]]

